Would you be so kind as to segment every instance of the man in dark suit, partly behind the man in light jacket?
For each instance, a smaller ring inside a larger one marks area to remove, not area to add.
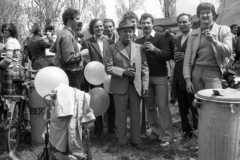
[[[198,126],[198,112],[193,107],[192,102],[194,100],[194,94],[188,93],[186,90],[186,82],[183,78],[183,57],[187,49],[188,35],[191,32],[192,18],[190,15],[182,13],[177,17],[179,30],[183,33],[182,36],[177,39],[177,52],[174,53],[175,68],[173,74],[173,87],[177,91],[178,106],[181,116],[181,124],[183,140],[187,140],[193,137],[193,131]],[[191,127],[188,115],[189,110],[192,113],[193,126]]]

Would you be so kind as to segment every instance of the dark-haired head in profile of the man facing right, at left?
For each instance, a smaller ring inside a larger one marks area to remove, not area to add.
[[[80,20],[79,11],[77,9],[68,8],[62,14],[63,24],[74,30]]]

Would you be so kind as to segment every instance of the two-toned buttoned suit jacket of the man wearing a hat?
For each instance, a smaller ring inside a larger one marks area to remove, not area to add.
[[[121,41],[109,46],[105,58],[105,67],[106,72],[112,75],[109,89],[111,93],[124,94],[127,91],[129,77],[124,76],[123,72],[133,64],[136,68],[133,83],[139,96],[141,96],[142,88],[148,88],[149,84],[149,69],[143,46],[131,42],[130,57]]]

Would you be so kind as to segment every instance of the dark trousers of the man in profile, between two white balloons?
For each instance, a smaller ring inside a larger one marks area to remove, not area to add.
[[[69,86],[75,87],[77,89],[81,89],[81,83],[83,79],[83,71],[65,71],[68,79],[69,79]]]

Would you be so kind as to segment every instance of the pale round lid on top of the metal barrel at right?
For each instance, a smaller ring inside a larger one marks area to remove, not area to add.
[[[213,90],[217,90],[220,95],[214,95]],[[238,89],[204,89],[196,93],[195,97],[206,101],[240,104],[240,90]]]

